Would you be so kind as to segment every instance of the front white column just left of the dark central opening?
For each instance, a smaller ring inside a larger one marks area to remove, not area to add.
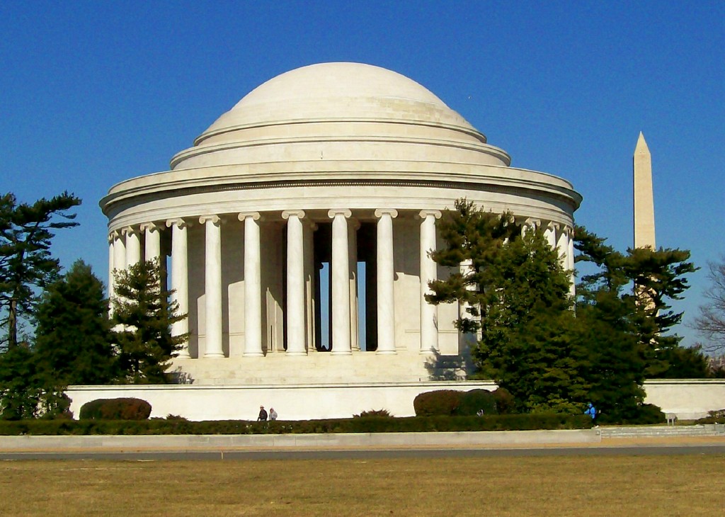
[[[305,355],[305,239],[302,210],[286,210],[287,220],[287,355]]]

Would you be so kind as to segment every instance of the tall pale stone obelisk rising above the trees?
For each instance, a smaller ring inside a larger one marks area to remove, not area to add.
[[[634,148],[634,247],[655,249],[652,155],[642,131]]]

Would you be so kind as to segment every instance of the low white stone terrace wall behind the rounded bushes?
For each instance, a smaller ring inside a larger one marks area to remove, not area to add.
[[[324,357],[338,360],[341,357]],[[249,358],[245,357],[244,361]],[[287,359],[289,360],[289,358]],[[275,408],[280,420],[348,418],[365,410],[413,416],[413,399],[436,389],[496,389],[493,381],[416,381],[358,384],[186,384],[70,386],[76,418],[90,400],[136,397],[152,405],[152,417],[181,415],[189,420],[255,420],[260,405]],[[681,420],[701,418],[725,408],[725,379],[646,381],[645,402]]]

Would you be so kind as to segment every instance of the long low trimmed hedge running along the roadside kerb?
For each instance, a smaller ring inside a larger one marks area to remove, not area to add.
[[[539,413],[524,415],[359,417],[307,421],[243,420],[25,420],[0,421],[0,435],[91,434],[306,434],[306,433],[405,433],[428,431],[521,431],[533,429],[587,429],[586,415]]]

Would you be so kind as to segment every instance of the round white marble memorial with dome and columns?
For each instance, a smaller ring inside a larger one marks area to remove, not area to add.
[[[173,332],[189,333],[172,370],[194,386],[465,379],[464,307],[424,298],[450,274],[429,255],[442,212],[460,198],[508,210],[573,269],[581,196],[510,164],[403,75],[298,68],[249,92],[170,170],[112,186],[109,270],[167,267],[188,313]]]

